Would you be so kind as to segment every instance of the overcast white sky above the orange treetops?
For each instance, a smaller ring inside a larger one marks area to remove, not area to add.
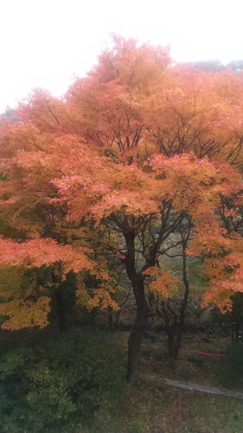
[[[0,0],[0,113],[45,87],[65,92],[109,33],[171,46],[178,61],[243,58],[243,0]]]

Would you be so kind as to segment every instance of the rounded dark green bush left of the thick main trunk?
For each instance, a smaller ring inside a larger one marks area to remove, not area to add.
[[[124,377],[121,348],[109,337],[67,333],[22,344],[0,358],[0,431],[87,422],[120,397]]]

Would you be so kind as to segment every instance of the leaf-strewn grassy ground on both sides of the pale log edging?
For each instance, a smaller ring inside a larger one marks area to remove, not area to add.
[[[123,336],[123,344],[125,338]],[[184,338],[182,348],[188,351],[227,353],[227,357],[199,356],[199,362],[180,352],[177,361],[166,356],[166,339],[157,343],[144,341],[141,372],[170,377],[197,384],[225,386],[243,391],[239,372],[243,367],[243,345],[232,345],[230,339],[211,339],[205,343],[198,336]],[[242,377],[243,375],[241,375]],[[238,378],[238,379],[237,379]],[[231,385],[231,386],[230,386]],[[125,397],[109,412],[95,414],[90,432],[116,433],[242,433],[243,401],[187,391],[141,376],[139,388],[128,389]],[[83,433],[83,432],[79,432]]]

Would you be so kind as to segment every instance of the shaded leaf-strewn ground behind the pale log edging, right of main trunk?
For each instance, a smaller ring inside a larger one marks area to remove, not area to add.
[[[176,360],[167,357],[166,336],[156,343],[144,340],[141,348],[141,368],[146,374],[194,382],[199,385],[243,390],[243,344],[232,343],[230,338],[210,339],[184,336]],[[195,352],[225,354],[226,356],[199,355]]]

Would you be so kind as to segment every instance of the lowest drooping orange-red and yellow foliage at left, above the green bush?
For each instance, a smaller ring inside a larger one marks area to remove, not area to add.
[[[69,245],[58,245],[53,239],[32,239],[26,242],[13,242],[9,239],[0,237],[0,265],[4,271],[6,266],[12,266],[9,273],[16,269],[19,271],[15,275],[13,291],[7,285],[4,287],[3,281],[0,288],[0,296],[3,302],[0,304],[0,314],[9,317],[2,327],[4,329],[19,329],[26,326],[46,326],[47,313],[50,312],[50,297],[43,296],[44,288],[39,288],[36,292],[35,281],[25,279],[21,287],[16,280],[23,275],[23,270],[28,268],[39,268],[43,265],[50,266],[56,262],[62,264],[62,279],[66,278],[69,271],[79,274],[79,284],[77,296],[82,298],[80,304],[85,305],[89,310],[101,303],[103,308],[112,306],[117,309],[117,305],[110,297],[114,291],[110,285],[112,278],[107,273],[104,265],[90,260],[88,249],[82,247],[70,248]],[[91,275],[103,281],[99,288],[95,290],[94,297],[91,297],[82,283],[82,271],[89,270]],[[9,277],[8,277],[9,278]],[[20,281],[21,282],[21,281]],[[32,284],[31,284],[32,283]],[[34,283],[34,284],[33,284]],[[16,286],[16,287],[15,287]],[[53,287],[54,284],[49,284]],[[42,296],[40,296],[42,292]],[[36,295],[38,296],[36,298]],[[39,297],[40,296],[40,297]],[[85,302],[83,301],[85,299]]]

